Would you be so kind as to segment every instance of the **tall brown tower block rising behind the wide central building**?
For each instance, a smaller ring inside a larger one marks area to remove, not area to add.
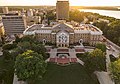
[[[69,0],[57,0],[56,16],[57,20],[69,19]]]

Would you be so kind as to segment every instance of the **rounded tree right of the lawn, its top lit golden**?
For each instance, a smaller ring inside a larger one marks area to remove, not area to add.
[[[85,62],[85,67],[90,72],[105,71],[105,54],[100,49],[95,49],[94,51],[90,52]]]

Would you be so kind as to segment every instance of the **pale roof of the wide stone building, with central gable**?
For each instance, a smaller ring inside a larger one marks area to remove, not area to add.
[[[67,23],[58,23],[57,25],[54,26],[48,26],[48,25],[43,25],[43,24],[34,24],[27,28],[24,32],[36,32],[36,33],[51,33],[54,30],[72,30],[74,33],[90,33],[90,34],[103,34],[102,31],[91,25],[91,24],[80,24],[78,27],[73,27],[72,25],[69,25]]]

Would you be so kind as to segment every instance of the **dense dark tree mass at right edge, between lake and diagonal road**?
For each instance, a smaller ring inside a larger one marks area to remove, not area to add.
[[[95,22],[93,25],[100,28],[105,37],[120,46],[120,20],[113,20],[109,24],[106,22]]]

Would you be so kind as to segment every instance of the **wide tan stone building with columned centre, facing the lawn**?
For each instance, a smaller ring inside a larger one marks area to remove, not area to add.
[[[102,40],[102,31],[91,24],[80,24],[74,27],[65,22],[53,26],[34,24],[24,31],[24,35],[36,35],[39,41],[46,40],[58,47],[68,47],[70,44],[84,43],[95,45]]]

